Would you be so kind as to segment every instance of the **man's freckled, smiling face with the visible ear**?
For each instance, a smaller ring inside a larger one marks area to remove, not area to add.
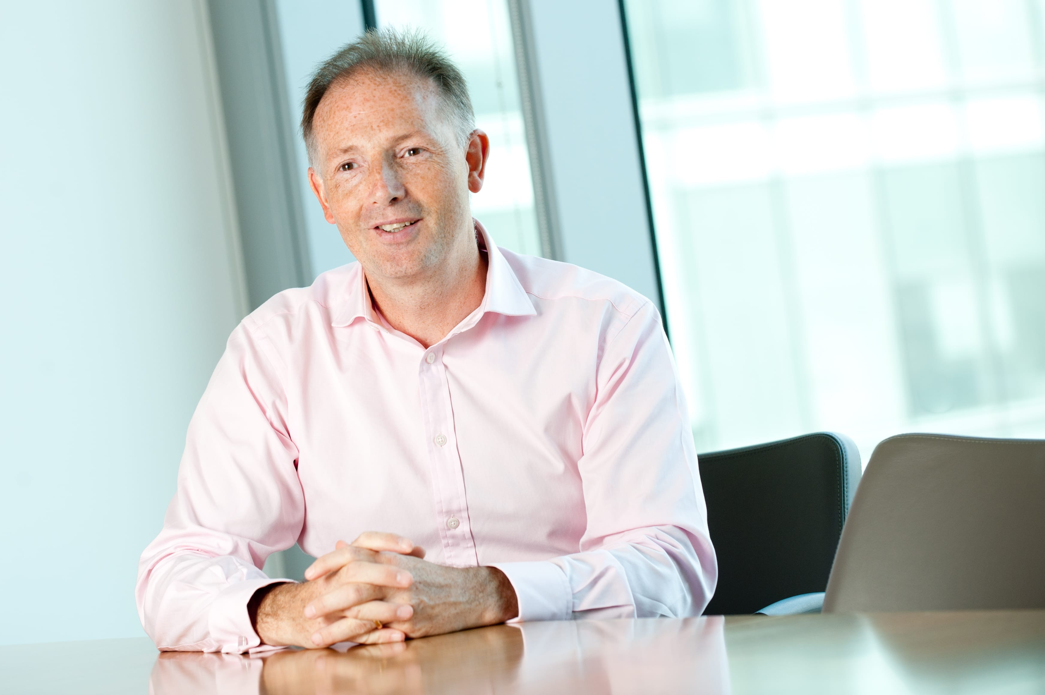
[[[482,187],[488,141],[458,144],[445,111],[428,80],[369,70],[316,110],[312,190],[370,274],[420,277],[474,244],[468,191]]]

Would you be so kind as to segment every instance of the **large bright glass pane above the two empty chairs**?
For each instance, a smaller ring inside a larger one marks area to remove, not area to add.
[[[1045,3],[625,7],[698,448],[1045,437]]]

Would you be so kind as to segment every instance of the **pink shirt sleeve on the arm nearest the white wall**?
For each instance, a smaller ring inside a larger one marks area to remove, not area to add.
[[[138,616],[161,650],[266,649],[247,604],[289,581],[259,570],[304,523],[279,363],[262,341],[242,324],[230,337],[189,423],[163,530],[138,564]]]

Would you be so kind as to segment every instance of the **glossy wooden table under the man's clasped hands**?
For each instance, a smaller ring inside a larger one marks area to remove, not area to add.
[[[345,652],[0,647],[0,693],[1045,693],[1045,610],[498,625]]]

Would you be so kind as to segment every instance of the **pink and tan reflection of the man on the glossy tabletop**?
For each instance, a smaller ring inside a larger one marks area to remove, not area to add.
[[[721,617],[497,625],[393,645],[248,658],[166,652],[157,695],[728,692]],[[651,656],[655,654],[655,659]],[[549,689],[553,689],[550,691]]]

